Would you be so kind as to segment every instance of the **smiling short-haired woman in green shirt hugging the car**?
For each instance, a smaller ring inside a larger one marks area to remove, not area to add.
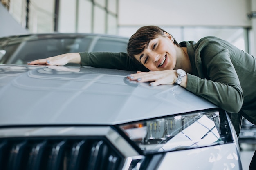
[[[126,53],[67,53],[28,64],[114,68],[137,71],[128,75],[151,86],[179,84],[226,110],[240,132],[241,117],[256,124],[256,58],[216,37],[180,44],[158,26],[144,26],[129,40]],[[250,169],[256,167],[256,154]],[[252,167],[252,168],[251,168]]]

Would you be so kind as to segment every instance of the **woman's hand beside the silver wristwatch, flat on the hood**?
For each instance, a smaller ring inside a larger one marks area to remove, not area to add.
[[[176,70],[150,72],[137,71],[136,74],[127,75],[127,78],[137,82],[151,82],[150,86],[157,86],[160,84],[174,84],[177,79],[177,72]]]

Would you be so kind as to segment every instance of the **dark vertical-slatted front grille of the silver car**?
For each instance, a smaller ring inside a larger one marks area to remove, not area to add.
[[[0,170],[118,170],[123,161],[105,137],[0,139]]]

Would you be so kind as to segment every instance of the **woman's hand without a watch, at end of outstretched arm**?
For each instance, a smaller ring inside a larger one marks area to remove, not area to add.
[[[81,64],[81,58],[79,53],[66,53],[57,55],[54,57],[38,59],[31,62],[27,62],[29,65],[57,65],[57,66],[64,66],[67,63],[76,63]]]

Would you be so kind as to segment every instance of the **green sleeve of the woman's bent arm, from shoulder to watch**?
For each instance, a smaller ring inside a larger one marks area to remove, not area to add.
[[[243,91],[228,49],[211,41],[199,46],[195,55],[201,76],[188,74],[187,90],[227,112],[238,113],[243,105]]]

